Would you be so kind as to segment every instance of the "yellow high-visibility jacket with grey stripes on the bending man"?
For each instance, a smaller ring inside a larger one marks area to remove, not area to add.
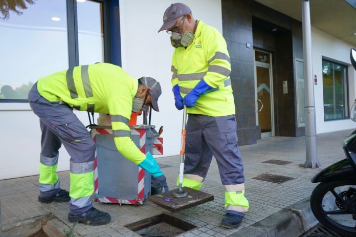
[[[110,114],[115,145],[135,164],[146,158],[131,140],[128,126],[137,89],[138,79],[110,63],[74,67],[37,82],[38,92],[49,101],[63,101],[80,111]]]

